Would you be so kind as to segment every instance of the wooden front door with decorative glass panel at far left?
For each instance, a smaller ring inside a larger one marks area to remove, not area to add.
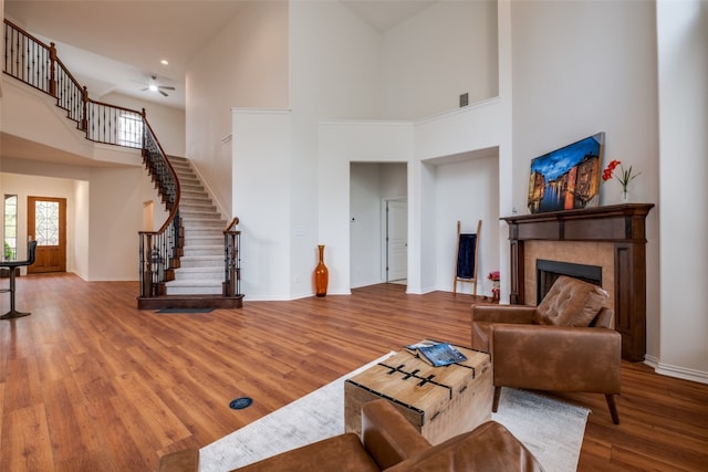
[[[28,272],[66,272],[66,199],[28,197],[27,207],[28,234],[37,240]]]

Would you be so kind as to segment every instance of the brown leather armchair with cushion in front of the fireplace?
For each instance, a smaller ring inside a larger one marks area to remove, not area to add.
[[[490,353],[497,411],[502,387],[604,394],[620,423],[622,336],[602,289],[559,277],[539,306],[473,305],[472,347]]]

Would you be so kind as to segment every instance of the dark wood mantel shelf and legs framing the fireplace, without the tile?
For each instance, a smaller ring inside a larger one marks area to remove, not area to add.
[[[654,203],[625,203],[502,218],[511,244],[510,303],[524,304],[524,241],[614,243],[615,329],[622,357],[646,354],[646,216]],[[530,268],[529,270],[533,270]]]

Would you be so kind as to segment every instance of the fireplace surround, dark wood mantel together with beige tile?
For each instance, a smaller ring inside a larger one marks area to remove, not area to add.
[[[645,218],[652,203],[502,218],[509,224],[512,304],[535,305],[538,259],[602,268],[602,286],[622,334],[622,357],[646,353]]]

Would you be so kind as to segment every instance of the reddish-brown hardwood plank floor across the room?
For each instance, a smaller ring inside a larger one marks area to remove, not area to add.
[[[32,315],[0,321],[0,472],[154,470],[403,344],[469,345],[469,295],[404,291],[156,314],[136,310],[134,282],[22,276]],[[229,409],[240,396],[253,406]],[[564,398],[593,410],[579,470],[708,470],[708,385],[626,363],[620,426],[603,396]]]

